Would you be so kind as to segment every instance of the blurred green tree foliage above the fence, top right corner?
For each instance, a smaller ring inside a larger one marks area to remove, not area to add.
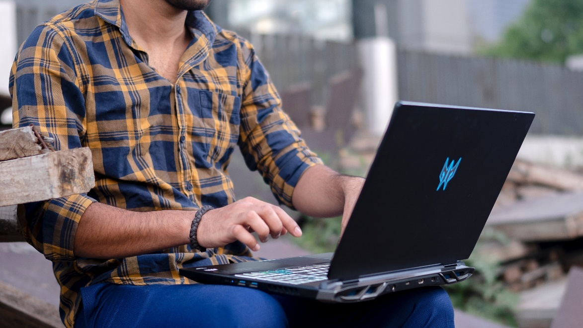
[[[561,64],[583,54],[583,0],[532,0],[499,44],[479,52]]]

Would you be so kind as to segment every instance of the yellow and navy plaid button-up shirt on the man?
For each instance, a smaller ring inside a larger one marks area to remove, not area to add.
[[[238,146],[248,167],[291,206],[301,173],[321,163],[281,110],[251,45],[202,12],[190,12],[186,26],[193,40],[174,84],[148,65],[118,0],[55,16],[16,56],[9,82],[15,126],[38,126],[57,150],[93,153],[90,192],[26,204],[20,217],[27,241],[53,262],[68,327],[87,285],[188,284],[181,267],[251,256],[236,242],[203,253],[183,245],[125,259],[79,258],[75,231],[92,202],[132,211],[225,206],[235,200],[227,165]]]

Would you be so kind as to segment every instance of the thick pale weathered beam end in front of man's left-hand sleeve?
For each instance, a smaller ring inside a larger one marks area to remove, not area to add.
[[[85,193],[94,185],[89,148],[0,162],[0,206]]]

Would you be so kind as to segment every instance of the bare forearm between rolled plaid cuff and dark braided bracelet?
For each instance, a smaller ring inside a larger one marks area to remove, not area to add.
[[[189,243],[194,211],[134,212],[92,203],[75,234],[75,256],[118,259]]]

